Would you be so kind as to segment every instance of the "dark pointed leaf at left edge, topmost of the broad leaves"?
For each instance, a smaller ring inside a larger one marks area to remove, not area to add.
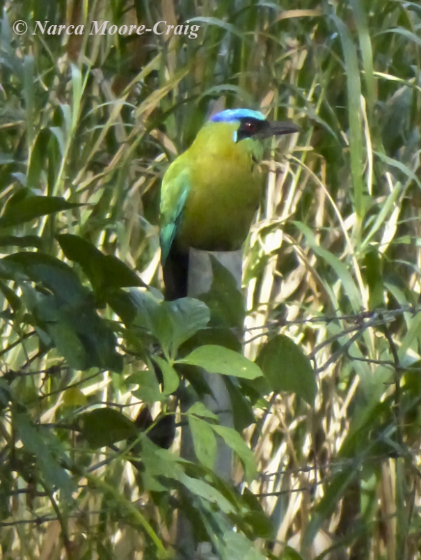
[[[67,202],[61,196],[34,196],[30,193],[29,189],[21,189],[17,193],[19,197],[15,198],[15,195],[8,200],[3,216],[0,217],[0,228],[24,224],[40,216],[81,206],[81,204]]]

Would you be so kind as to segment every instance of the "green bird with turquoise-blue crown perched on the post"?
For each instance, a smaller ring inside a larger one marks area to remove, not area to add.
[[[165,299],[187,295],[189,249],[236,251],[262,192],[264,139],[299,132],[253,109],[211,116],[168,167],[161,184],[159,241]]]

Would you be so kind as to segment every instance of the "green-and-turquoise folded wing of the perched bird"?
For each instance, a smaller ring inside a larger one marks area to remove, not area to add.
[[[182,211],[190,190],[189,170],[180,167],[179,160],[176,160],[170,165],[162,181],[159,241],[163,265],[180,227]]]

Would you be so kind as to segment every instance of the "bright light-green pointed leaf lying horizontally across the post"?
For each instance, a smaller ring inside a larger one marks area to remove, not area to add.
[[[233,350],[212,344],[196,348],[183,359],[177,360],[177,364],[198,366],[208,373],[234,375],[244,379],[255,379],[262,375],[260,367],[253,361]]]

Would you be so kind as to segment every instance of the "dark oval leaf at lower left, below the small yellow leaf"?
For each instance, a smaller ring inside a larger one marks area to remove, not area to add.
[[[134,421],[115,408],[95,408],[84,412],[79,414],[77,423],[82,437],[93,449],[138,435]]]

